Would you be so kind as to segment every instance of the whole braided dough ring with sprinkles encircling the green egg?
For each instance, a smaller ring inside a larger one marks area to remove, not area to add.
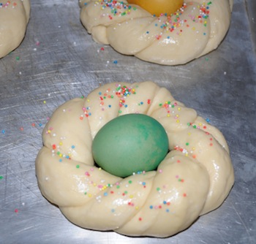
[[[105,123],[129,113],[157,119],[170,152],[157,170],[118,178],[94,166],[91,144]],[[42,139],[39,188],[69,221],[86,229],[175,235],[219,207],[234,182],[222,133],[152,82],[110,83],[62,104]]]

